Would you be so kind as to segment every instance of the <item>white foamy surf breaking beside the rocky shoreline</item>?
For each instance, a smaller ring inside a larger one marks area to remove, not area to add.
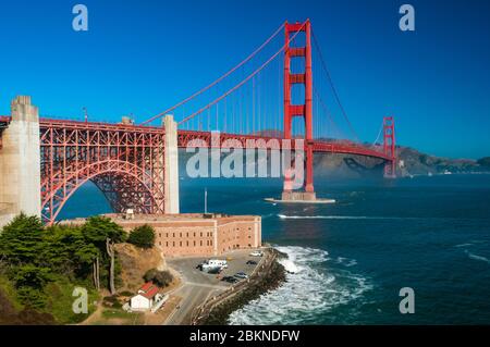
[[[334,307],[360,298],[372,285],[347,270],[324,271],[331,260],[321,249],[277,247],[289,259],[280,260],[286,269],[286,282],[233,312],[229,324],[314,324],[318,315]],[[344,261],[348,263],[347,258]],[[351,260],[352,261],[352,260]],[[322,270],[323,268],[323,270]]]

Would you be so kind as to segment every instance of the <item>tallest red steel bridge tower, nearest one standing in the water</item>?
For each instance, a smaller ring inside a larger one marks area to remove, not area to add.
[[[284,178],[283,200],[315,200],[314,188],[314,153],[313,153],[313,70],[311,70],[311,23],[289,24],[285,23],[285,48],[284,48],[284,138],[292,138],[293,119],[298,116],[305,121],[305,179],[304,191],[293,191],[292,177],[286,174]],[[306,42],[304,47],[290,47],[291,34],[304,32]],[[291,72],[291,59],[303,58],[305,62],[304,73]],[[293,85],[304,85],[305,101],[303,104],[293,104],[291,89]]]

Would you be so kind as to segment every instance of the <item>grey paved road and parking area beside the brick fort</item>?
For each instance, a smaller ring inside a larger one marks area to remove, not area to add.
[[[209,258],[175,258],[168,259],[167,263],[177,271],[183,281],[183,285],[173,292],[182,297],[180,308],[175,309],[164,324],[180,325],[189,324],[194,309],[204,303],[209,297],[218,295],[231,286],[230,283],[221,281],[222,276],[231,276],[237,272],[250,274],[255,265],[247,265],[248,260],[259,261],[260,258],[249,257],[253,250],[235,250],[223,257],[212,257],[212,259],[226,259],[229,268],[219,276],[208,274],[196,269],[197,264]]]

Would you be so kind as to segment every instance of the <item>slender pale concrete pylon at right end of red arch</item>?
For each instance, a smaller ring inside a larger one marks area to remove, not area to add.
[[[177,147],[177,125],[173,115],[166,115],[163,120],[166,127],[166,150],[164,150],[164,196],[166,213],[177,214],[179,208],[179,147]]]

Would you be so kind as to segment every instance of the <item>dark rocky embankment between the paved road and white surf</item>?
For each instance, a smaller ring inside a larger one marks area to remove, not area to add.
[[[215,302],[207,302],[208,307],[201,309],[199,317],[194,320],[194,324],[225,325],[232,312],[285,282],[284,267],[278,260],[286,256],[269,248],[267,257],[262,267],[250,276],[242,288],[236,288],[234,293],[218,298]]]

